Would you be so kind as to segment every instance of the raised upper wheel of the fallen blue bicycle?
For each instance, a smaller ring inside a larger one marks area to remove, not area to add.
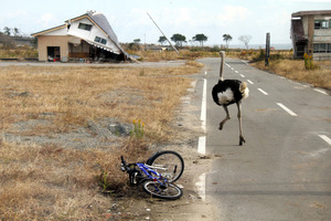
[[[168,179],[168,182],[178,180],[184,171],[182,156],[172,150],[160,151],[147,160],[147,165]]]

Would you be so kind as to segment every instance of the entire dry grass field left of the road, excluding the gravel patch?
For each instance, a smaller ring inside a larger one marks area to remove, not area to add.
[[[52,124],[38,125],[30,135],[67,133],[89,119],[116,117],[124,123],[142,119],[146,138],[85,149],[0,138],[0,220],[105,220],[116,198],[99,190],[126,189],[119,156],[128,161],[146,159],[147,141],[174,136],[173,109],[191,82],[182,75],[199,69],[195,62],[164,69],[2,67],[3,133],[20,135],[13,131],[15,123],[42,120],[51,113]]]

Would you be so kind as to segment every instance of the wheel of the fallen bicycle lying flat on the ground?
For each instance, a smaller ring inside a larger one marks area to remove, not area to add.
[[[158,181],[147,180],[142,185],[142,189],[153,197],[177,200],[182,197],[183,191],[175,185],[167,183],[166,186],[160,185]]]

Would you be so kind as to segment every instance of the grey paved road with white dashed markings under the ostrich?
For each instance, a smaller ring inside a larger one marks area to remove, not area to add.
[[[241,147],[236,105],[217,129],[225,113],[211,90],[220,59],[200,62],[206,71],[205,151],[221,156],[205,176],[218,220],[331,220],[331,96],[227,57],[224,77],[246,81],[250,91]]]

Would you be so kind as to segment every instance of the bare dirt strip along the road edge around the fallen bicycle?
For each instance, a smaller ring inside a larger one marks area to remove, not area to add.
[[[191,91],[194,91],[194,88]],[[194,114],[199,107],[191,104],[194,92],[183,97],[183,104],[175,110],[177,120],[173,129],[180,133],[180,138],[157,150],[175,150],[184,159],[184,173],[177,181],[183,187],[183,197],[169,201],[150,198],[141,187],[135,187],[126,196],[119,197],[113,204],[108,217],[114,220],[156,220],[156,221],[212,221],[216,220],[213,203],[205,200],[203,189],[199,183],[200,176],[210,170],[214,158],[221,156],[203,156],[197,152],[197,138],[202,135],[201,122]],[[110,220],[113,220],[110,219]]]

